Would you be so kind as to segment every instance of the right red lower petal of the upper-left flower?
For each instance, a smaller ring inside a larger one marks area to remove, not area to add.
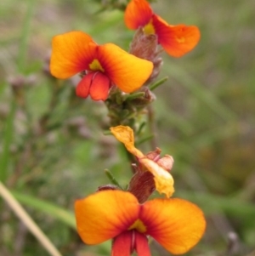
[[[106,100],[110,88],[110,79],[101,72],[95,72],[90,87],[90,97],[92,100]]]

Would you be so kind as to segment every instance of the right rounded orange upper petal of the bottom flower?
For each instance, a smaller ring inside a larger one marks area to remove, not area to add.
[[[183,199],[154,199],[141,206],[139,219],[146,234],[173,254],[182,254],[200,241],[206,220],[200,208]]]

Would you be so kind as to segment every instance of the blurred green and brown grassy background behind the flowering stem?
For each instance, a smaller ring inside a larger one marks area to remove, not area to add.
[[[48,73],[51,39],[65,31],[128,50],[133,31],[122,11],[100,12],[101,2],[111,1],[0,3],[0,178],[63,255],[110,255],[111,242],[81,242],[73,202],[109,183],[105,168],[123,186],[132,175],[119,143],[102,133],[105,105],[77,99],[77,77],[56,81]],[[205,236],[185,255],[255,255],[255,2],[159,0],[152,7],[170,24],[201,30],[190,54],[162,54],[160,77],[169,79],[152,104],[157,145],[175,160],[174,196],[207,216]],[[1,199],[0,209],[0,255],[47,255]]]

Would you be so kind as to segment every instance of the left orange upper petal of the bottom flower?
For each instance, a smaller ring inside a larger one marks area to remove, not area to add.
[[[139,202],[126,191],[99,191],[77,200],[75,214],[82,241],[98,244],[133,225],[139,216]]]

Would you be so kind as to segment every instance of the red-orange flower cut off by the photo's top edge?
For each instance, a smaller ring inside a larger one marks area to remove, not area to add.
[[[153,13],[146,0],[131,0],[127,4],[124,19],[129,29],[135,30],[141,26],[145,34],[156,34],[158,43],[173,57],[187,54],[200,39],[200,31],[196,26],[167,24]]]

